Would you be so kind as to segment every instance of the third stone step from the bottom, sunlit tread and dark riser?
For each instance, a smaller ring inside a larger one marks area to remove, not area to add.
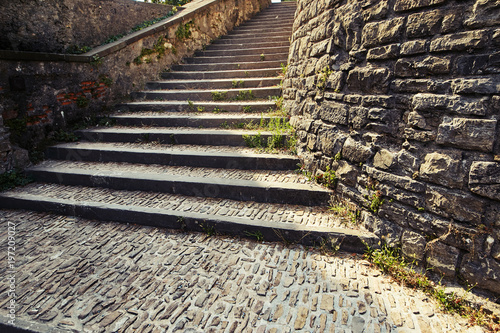
[[[207,147],[204,150],[196,148],[188,145],[76,142],[49,147],[46,157],[52,160],[127,162],[240,170],[295,170],[300,163],[296,156],[259,154],[248,148]]]

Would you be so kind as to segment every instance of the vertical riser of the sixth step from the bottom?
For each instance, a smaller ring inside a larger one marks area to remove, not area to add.
[[[245,110],[245,104],[207,104],[207,103],[193,103],[195,110],[186,103],[179,103],[174,105],[165,104],[119,104],[116,106],[118,110],[122,111],[160,111],[160,112],[193,112],[198,111],[198,107],[202,108],[205,112],[267,112],[270,109],[274,110],[276,108],[274,103],[258,103],[249,104],[251,110]],[[220,109],[217,110],[216,108]]]

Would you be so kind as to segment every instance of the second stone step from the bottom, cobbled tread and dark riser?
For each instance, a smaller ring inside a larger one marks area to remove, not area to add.
[[[48,160],[26,169],[26,173],[44,183],[238,201],[318,206],[327,205],[331,196],[330,190],[314,183],[300,183],[299,176],[285,171],[259,173],[255,170]]]

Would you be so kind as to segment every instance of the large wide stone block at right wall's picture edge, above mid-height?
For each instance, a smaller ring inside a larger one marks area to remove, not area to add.
[[[439,125],[436,142],[462,149],[493,150],[496,120],[445,117]]]

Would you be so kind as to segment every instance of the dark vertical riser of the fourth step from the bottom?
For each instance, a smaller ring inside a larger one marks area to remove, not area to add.
[[[188,134],[188,133],[95,133],[77,132],[85,141],[92,142],[160,142],[162,144],[187,144],[187,145],[208,145],[208,146],[233,146],[245,147],[245,140],[237,134]],[[269,135],[262,134],[261,137],[267,140]]]

